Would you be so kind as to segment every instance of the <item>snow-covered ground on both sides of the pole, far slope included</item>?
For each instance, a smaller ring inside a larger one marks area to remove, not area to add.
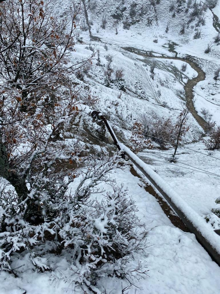
[[[187,64],[186,71],[182,72],[181,67],[182,64],[185,64],[184,61],[143,57],[123,49],[123,47],[132,47],[152,51],[158,57],[163,54],[175,58],[175,52],[168,51],[168,44],[173,41],[177,44],[174,49],[178,52],[177,56],[195,56],[197,64],[206,74],[205,80],[200,81],[194,87],[196,98],[194,105],[197,112],[201,114],[201,108],[207,108],[213,115],[213,119],[220,123],[219,81],[216,82],[213,79],[214,70],[220,65],[220,46],[213,44],[213,38],[217,32],[213,27],[211,11],[207,10],[206,12],[206,24],[199,27],[201,29],[200,39],[193,39],[195,22],[191,25],[193,28],[189,26],[185,34],[179,34],[182,23],[187,22],[187,16],[182,12],[181,17],[177,15],[175,18],[171,18],[171,13],[168,13],[170,5],[168,0],[160,1],[160,4],[156,6],[158,22],[153,21],[152,26],[146,25],[147,16],[153,17],[154,10],[151,7],[145,19],[131,26],[129,30],[123,29],[123,24],[120,22],[116,35],[111,18],[111,13],[118,4],[116,2],[110,0],[103,5],[104,1],[100,0],[97,1],[97,9],[94,11],[88,9],[89,19],[91,18],[94,23],[91,26],[92,35],[101,39],[101,42],[91,41],[91,46],[94,46],[95,50],[100,50],[101,66],[96,65],[97,60],[94,59],[93,66],[88,74],[84,75],[84,81],[77,80],[84,87],[80,97],[82,102],[104,113],[113,123],[120,140],[126,142],[131,136],[133,123],[150,110],[160,113],[161,116],[173,115],[175,118],[180,113],[182,103],[185,101],[184,85],[188,78],[196,77],[197,72],[189,64]],[[126,5],[130,5],[132,1],[125,2]],[[145,4],[149,1],[139,2]],[[88,5],[87,1],[86,4]],[[58,0],[56,5],[60,9],[61,15],[68,11],[69,1]],[[213,11],[220,17],[219,5]],[[104,14],[108,19],[105,30],[100,28],[101,18]],[[169,31],[165,33],[167,23],[169,23]],[[88,31],[82,32],[80,36],[82,36],[82,44],[77,42],[76,51],[73,53],[73,58],[77,59],[82,59],[92,53],[88,48],[90,42]],[[155,39],[157,39],[157,43],[154,42]],[[213,44],[213,48],[209,54],[205,54],[204,50],[208,43]],[[107,50],[104,48],[104,44],[107,44]],[[119,90],[114,85],[112,88],[103,85],[104,71],[106,70],[105,56],[107,54],[113,56],[113,69],[122,68],[124,70],[126,92]],[[153,63],[155,64],[154,79],[150,76],[150,67]],[[97,138],[95,128],[92,128],[94,123],[87,117],[85,121],[87,128],[92,129],[93,135]],[[199,213],[205,222],[205,216],[211,213],[211,208],[216,207],[214,201],[219,196],[220,152],[209,153],[205,150],[204,143],[198,141],[203,132],[201,126],[192,115],[189,117],[189,123],[190,131],[184,139],[189,143],[186,147],[219,159],[179,148],[177,160],[180,163],[177,162],[174,165],[184,166],[182,163],[185,163],[189,166],[185,165],[184,167],[197,167],[216,175],[208,175],[168,164],[164,157],[170,158],[172,150],[144,150],[138,156],[148,163],[191,208]],[[102,141],[102,137],[98,138]],[[99,141],[96,143],[98,144]],[[98,145],[94,148],[102,152]],[[132,287],[126,292],[129,294],[219,293],[220,268],[211,260],[195,236],[172,225],[157,200],[145,191],[143,181],[133,176],[128,166],[124,171],[116,170],[111,177],[116,179],[117,185],[123,183],[128,186],[128,195],[136,201],[139,210],[138,217],[145,222],[146,234],[143,234],[143,238],[149,244],[146,251],[134,256],[134,261],[132,261],[134,264],[138,260],[146,261],[149,276],[145,275],[141,280],[134,282],[138,288]],[[211,223],[210,230],[212,230]],[[1,273],[0,293],[83,293],[82,290],[74,289],[71,284],[62,280],[59,283],[53,281],[52,277],[57,271],[61,271],[63,276],[68,274],[65,257],[51,259],[51,263],[54,267],[53,273],[36,273],[33,272],[31,266],[25,272],[22,272],[21,267],[19,278]],[[21,260],[22,264],[26,264],[26,260]],[[128,285],[126,281],[122,281],[123,288],[126,285]],[[121,280],[116,278],[99,280],[97,287],[100,289],[100,293],[106,288],[106,292],[102,293],[119,294],[121,293]]]

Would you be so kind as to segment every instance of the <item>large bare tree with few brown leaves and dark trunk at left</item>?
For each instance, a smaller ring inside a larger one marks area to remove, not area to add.
[[[44,173],[50,170],[50,165],[42,165],[43,158],[53,157],[52,146],[62,138],[61,126],[76,112],[78,90],[69,74],[89,64],[89,60],[68,64],[79,8],[71,8],[70,18],[59,21],[49,4],[35,0],[1,4],[0,176],[14,187],[19,203],[25,199],[32,203],[25,218],[38,214],[40,205],[28,197],[26,181],[34,186],[42,168]],[[60,156],[67,152],[62,143],[58,146]]]

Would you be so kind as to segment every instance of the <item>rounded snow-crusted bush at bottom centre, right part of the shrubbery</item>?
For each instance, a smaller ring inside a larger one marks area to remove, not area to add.
[[[95,171],[97,168],[101,170]],[[101,164],[87,169],[76,190],[76,201],[67,203],[68,209],[63,215],[67,225],[60,230],[60,235],[65,247],[74,246],[73,259],[81,260],[79,283],[86,279],[95,284],[106,275],[125,278],[126,263],[143,246],[137,234],[137,227],[143,223],[135,216],[134,202],[127,197],[123,186],[116,187],[108,181],[104,169]],[[95,180],[92,180],[94,176]],[[88,179],[93,189],[96,181],[108,181],[112,192],[106,193],[102,201],[91,200],[91,188],[86,184]]]

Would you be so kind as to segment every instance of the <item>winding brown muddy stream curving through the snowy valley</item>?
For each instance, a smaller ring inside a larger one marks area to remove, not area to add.
[[[181,60],[184,61],[186,63],[188,63],[195,71],[197,71],[198,76],[196,78],[192,78],[192,79],[188,79],[187,83],[185,83],[184,86],[184,90],[185,90],[185,97],[186,97],[186,103],[189,103],[190,101],[192,101],[192,99],[194,98],[194,91],[193,88],[194,86],[196,86],[197,83],[199,83],[200,81],[204,81],[205,79],[205,73],[204,71],[202,71],[202,69],[200,69],[200,67],[193,61],[190,60],[191,56],[187,56],[187,58],[179,58],[177,57],[177,52],[174,50],[174,46],[172,46],[172,44],[170,44],[170,52],[175,53],[175,57],[167,57],[164,54],[161,54],[161,56],[158,56],[157,52],[152,52],[152,51],[143,51],[143,50],[139,50],[133,47],[123,47],[122,49],[135,53],[137,55],[140,56],[144,56],[146,57],[146,59],[151,59],[152,58],[152,62],[153,59],[171,59],[171,60]],[[155,56],[154,54],[157,54],[157,56]],[[158,64],[157,64],[158,66]],[[167,69],[167,66],[164,63],[159,63],[159,68],[160,69]],[[182,80],[182,74],[179,72],[175,73],[178,79]],[[194,105],[192,104],[192,106],[190,107],[190,112],[192,113],[192,116],[195,118],[195,120],[197,121],[197,123],[203,128],[203,130],[206,132],[206,121],[199,116],[199,114],[197,113],[197,111],[195,110]]]

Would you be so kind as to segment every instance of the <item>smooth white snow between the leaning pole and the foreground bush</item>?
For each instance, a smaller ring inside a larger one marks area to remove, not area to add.
[[[145,184],[128,168],[117,170],[117,184],[128,186],[138,207],[138,216],[146,224],[148,248],[136,260],[147,260],[149,277],[139,280],[137,294],[218,293],[220,269],[191,233],[175,228],[156,199],[143,188]],[[99,282],[103,285],[103,281]],[[104,282],[109,292],[120,293],[118,280]],[[125,286],[125,283],[123,282]],[[128,293],[134,293],[131,289]],[[108,292],[107,292],[108,293]]]

